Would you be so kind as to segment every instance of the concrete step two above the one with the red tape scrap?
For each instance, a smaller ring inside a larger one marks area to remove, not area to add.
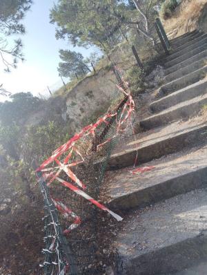
[[[176,120],[186,119],[199,113],[201,108],[206,104],[207,93],[193,97],[187,101],[180,102],[179,104],[171,106],[156,115],[152,115],[145,120],[141,120],[140,126],[143,129],[149,130]]]

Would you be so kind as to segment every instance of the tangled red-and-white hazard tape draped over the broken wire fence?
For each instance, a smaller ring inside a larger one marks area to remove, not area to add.
[[[123,85],[124,85],[124,88],[122,88]],[[103,211],[108,211],[108,213],[110,215],[112,215],[114,218],[116,218],[117,220],[122,220],[122,218],[119,215],[115,214],[114,212],[110,211],[110,209],[108,209],[107,207],[101,205],[99,202],[97,202],[97,200],[94,200],[93,198],[88,196],[87,193],[85,193],[84,191],[81,190],[81,189],[85,190],[86,185],[83,184],[83,182],[81,182],[81,180],[79,180],[79,178],[75,175],[75,173],[72,172],[70,167],[75,167],[77,164],[80,164],[81,162],[84,161],[81,153],[75,148],[75,144],[77,144],[77,142],[84,136],[86,137],[88,135],[91,135],[94,138],[96,129],[102,124],[108,125],[109,118],[116,116],[117,126],[116,126],[115,135],[113,135],[111,138],[108,138],[101,144],[97,144],[97,149],[99,149],[101,146],[103,146],[107,142],[110,142],[110,140],[112,140],[112,138],[117,137],[117,135],[119,135],[119,133],[122,133],[126,130],[126,128],[128,126],[128,122],[132,115],[132,112],[135,111],[135,102],[132,99],[132,96],[130,95],[128,82],[123,81],[122,86],[118,85],[117,88],[119,88],[119,90],[122,93],[124,93],[124,95],[127,96],[128,99],[127,99],[126,103],[124,104],[124,107],[122,108],[119,120],[117,120],[117,111],[115,111],[114,113],[112,113],[112,112],[107,113],[103,117],[99,118],[99,120],[97,120],[97,122],[95,122],[95,124],[90,124],[90,125],[84,127],[79,133],[75,134],[72,138],[70,138],[70,140],[68,140],[68,142],[59,146],[59,148],[57,148],[52,153],[50,158],[45,160],[41,164],[41,166],[37,169],[37,171],[42,171],[45,174],[44,177],[47,180],[48,186],[54,180],[58,180],[59,182],[61,182],[61,184],[63,184],[63,186],[68,187],[70,190],[74,191],[79,196],[86,198],[86,200],[89,200],[92,204],[99,207],[99,209],[102,209]],[[124,128],[123,128],[123,126],[124,126]],[[64,158],[63,161],[59,160],[59,158],[62,158],[63,154],[66,152],[68,152],[66,158]],[[70,162],[73,153],[76,153],[79,156],[80,160],[68,163],[68,162]],[[52,162],[56,162],[57,167],[48,167],[48,165],[51,164]],[[59,178],[61,171],[64,171],[67,174],[67,176],[70,178],[70,180],[72,180],[72,182],[75,182],[75,184],[77,184],[77,186],[81,187],[81,189],[75,187],[70,182],[66,182],[65,180],[62,180],[61,178]],[[48,173],[46,174],[46,172],[48,172]],[[70,231],[71,229],[76,228],[78,225],[79,225],[79,220],[77,219],[76,222],[74,222],[74,224],[71,225],[70,228],[68,228],[68,230]]]

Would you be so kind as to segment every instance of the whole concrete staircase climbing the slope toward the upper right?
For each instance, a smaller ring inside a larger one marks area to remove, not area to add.
[[[170,43],[160,97],[106,173],[108,205],[126,213],[113,244],[119,275],[207,274],[207,117],[195,116],[207,104],[207,34]],[[138,167],[154,168],[130,173],[137,153]]]

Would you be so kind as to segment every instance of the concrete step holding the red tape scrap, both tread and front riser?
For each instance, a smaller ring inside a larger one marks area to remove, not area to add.
[[[204,140],[203,135],[197,138]],[[207,144],[152,160],[141,167],[155,168],[144,173],[132,174],[132,167],[107,171],[106,202],[112,209],[128,210],[207,187],[206,155]]]

